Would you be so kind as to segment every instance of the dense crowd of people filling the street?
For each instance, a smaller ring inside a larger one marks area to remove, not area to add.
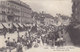
[[[30,49],[32,47],[39,47],[39,46],[63,46],[65,43],[65,40],[63,36],[59,37],[57,32],[48,32],[46,33],[36,31],[32,32],[26,31],[24,35],[19,36],[19,31],[17,31],[18,37],[17,41],[13,39],[13,41],[10,41],[10,37],[7,38],[5,41],[7,49],[9,49],[9,52],[11,50],[16,49],[16,52],[23,52],[23,47],[26,49]]]

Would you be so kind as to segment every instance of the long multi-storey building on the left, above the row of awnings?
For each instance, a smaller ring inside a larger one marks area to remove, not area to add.
[[[32,9],[20,0],[0,1],[0,21],[5,22],[32,22]]]

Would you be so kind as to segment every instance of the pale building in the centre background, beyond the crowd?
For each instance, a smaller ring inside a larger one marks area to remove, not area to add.
[[[51,16],[50,14],[45,14],[45,19],[44,19],[44,22],[45,22],[45,25],[53,25],[53,26],[61,26],[61,18],[59,17],[53,17]]]

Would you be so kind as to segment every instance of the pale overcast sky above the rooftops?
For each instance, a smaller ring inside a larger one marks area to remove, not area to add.
[[[22,0],[37,12],[45,11],[55,16],[57,13],[71,16],[71,0]]]

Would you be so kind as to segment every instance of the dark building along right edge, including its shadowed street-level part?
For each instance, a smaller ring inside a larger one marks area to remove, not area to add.
[[[67,31],[74,45],[80,46],[80,0],[72,0],[72,23]]]

